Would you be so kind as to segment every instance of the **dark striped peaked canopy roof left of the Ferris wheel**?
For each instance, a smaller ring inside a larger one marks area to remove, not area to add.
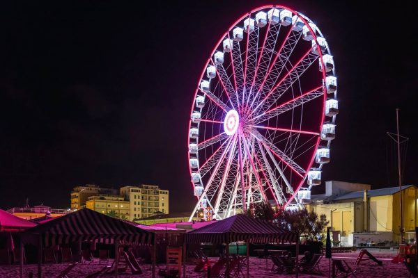
[[[77,241],[114,240],[124,243],[153,243],[154,234],[117,218],[82,208],[24,231],[26,238],[42,238],[52,246]]]

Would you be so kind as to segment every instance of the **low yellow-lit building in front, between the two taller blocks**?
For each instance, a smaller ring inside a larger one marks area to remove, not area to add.
[[[130,202],[118,195],[98,195],[88,197],[86,208],[99,213],[111,214],[130,220]]]

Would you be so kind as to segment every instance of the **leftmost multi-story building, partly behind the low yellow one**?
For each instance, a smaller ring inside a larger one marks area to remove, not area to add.
[[[88,197],[94,195],[118,195],[118,190],[114,188],[100,188],[94,184],[76,186],[71,191],[71,209],[79,209],[86,206]]]

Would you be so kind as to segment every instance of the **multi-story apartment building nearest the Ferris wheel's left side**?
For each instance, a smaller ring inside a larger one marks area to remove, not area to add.
[[[123,186],[121,195],[130,202],[130,220],[169,213],[169,190],[159,186]]]

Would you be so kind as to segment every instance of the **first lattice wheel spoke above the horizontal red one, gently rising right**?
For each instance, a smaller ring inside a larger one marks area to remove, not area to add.
[[[317,88],[314,88],[314,90],[309,90],[309,92],[305,92],[299,97],[295,97],[294,99],[286,101],[284,104],[280,104],[279,106],[273,107],[268,111],[256,115],[253,118],[254,123],[259,124],[261,122],[264,122],[265,120],[269,120],[272,117],[277,117],[280,114],[285,113],[286,111],[290,111],[296,108],[297,106],[301,106],[313,99],[316,99],[317,97],[323,96],[324,92],[320,90],[322,88],[323,86],[320,85]]]

